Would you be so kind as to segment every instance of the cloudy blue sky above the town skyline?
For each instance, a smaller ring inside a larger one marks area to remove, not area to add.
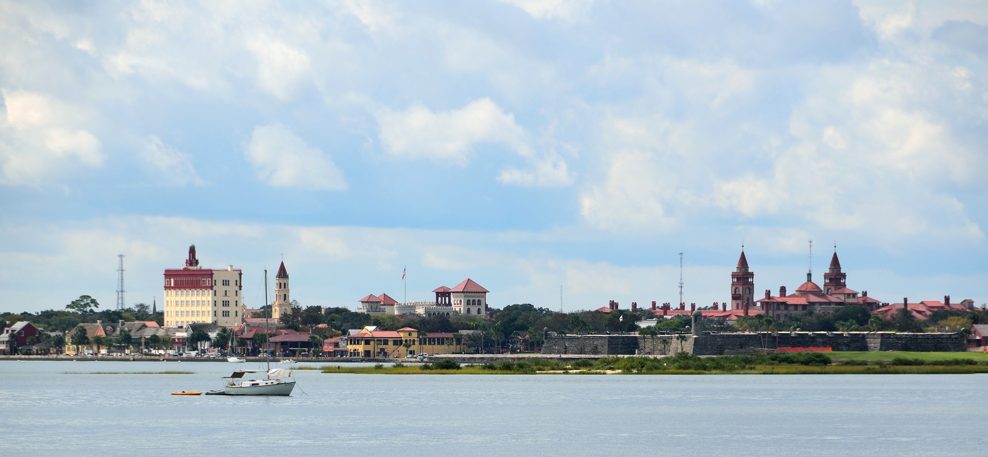
[[[0,311],[115,308],[121,254],[160,309],[191,244],[252,308],[283,260],[302,306],[709,306],[742,245],[757,297],[836,246],[981,306],[986,153],[983,1],[0,1]]]

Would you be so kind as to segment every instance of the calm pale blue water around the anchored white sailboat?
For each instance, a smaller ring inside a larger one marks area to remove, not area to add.
[[[256,363],[238,364],[256,368]],[[0,361],[0,442],[32,455],[986,455],[988,375],[384,376],[180,397],[227,362]],[[193,371],[194,374],[93,374]]]

